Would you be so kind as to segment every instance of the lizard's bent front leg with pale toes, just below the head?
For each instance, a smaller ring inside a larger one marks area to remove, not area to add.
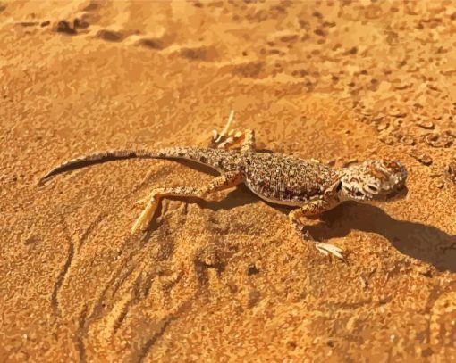
[[[298,210],[291,210],[288,217],[298,234],[305,240],[314,241],[316,243],[315,246],[319,252],[324,253],[326,256],[329,253],[332,253],[334,256],[343,260],[342,250],[339,247],[336,247],[333,244],[315,241],[313,237],[308,233],[306,226],[300,220],[302,217],[315,216],[317,214],[320,214],[325,210],[328,210],[328,207],[329,202],[327,202],[324,198],[317,199],[316,201],[308,202]]]

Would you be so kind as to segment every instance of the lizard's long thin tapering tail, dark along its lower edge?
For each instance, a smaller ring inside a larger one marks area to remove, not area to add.
[[[81,156],[80,158],[65,161],[51,169],[44,177],[42,177],[38,186],[42,186],[51,177],[64,171],[80,169],[93,164],[99,164],[107,161],[116,161],[123,159],[190,159],[195,160],[194,155],[199,155],[200,151],[197,148],[175,147],[167,148],[156,151],[150,150],[112,150],[100,153],[91,153],[89,155]]]

